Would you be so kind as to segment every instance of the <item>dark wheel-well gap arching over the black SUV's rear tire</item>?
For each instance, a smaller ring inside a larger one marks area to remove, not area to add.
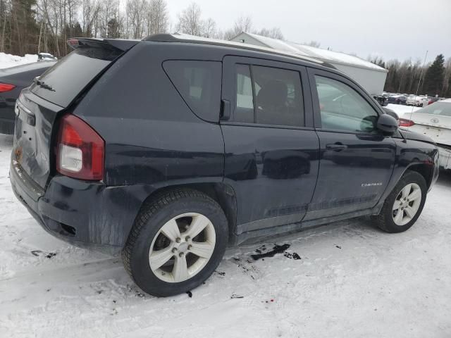
[[[170,190],[176,189],[192,189],[197,190],[198,192],[202,192],[207,196],[214,199],[219,206],[224,211],[228,221],[228,230],[229,230],[229,240],[233,238],[233,234],[235,232],[236,218],[237,218],[237,203],[235,198],[235,192],[228,184],[223,184],[221,182],[218,183],[190,183],[190,184],[177,184],[171,185],[170,187],[163,187],[156,189],[152,194],[147,196],[142,203],[142,206],[146,204],[151,199],[154,199],[155,196],[161,194],[162,192],[168,192]],[[140,208],[140,212],[142,209]]]

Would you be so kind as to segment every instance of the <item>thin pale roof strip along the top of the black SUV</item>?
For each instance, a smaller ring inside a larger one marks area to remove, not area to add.
[[[181,42],[181,43],[190,43],[190,44],[204,44],[204,45],[213,45],[213,46],[223,46],[231,49],[242,49],[247,51],[260,51],[265,54],[273,54],[277,56],[288,56],[290,58],[296,58],[299,61],[307,61],[309,63],[314,63],[316,65],[322,65],[327,68],[331,68],[336,70],[336,68],[327,63],[326,61],[321,61],[316,58],[311,58],[309,56],[303,56],[300,54],[290,53],[288,51],[280,51],[277,49],[255,46],[251,44],[243,44],[241,42],[232,42],[221,39],[210,39],[207,37],[197,37],[194,35],[180,35],[180,34],[154,34],[149,35],[142,39],[143,41],[150,42]]]

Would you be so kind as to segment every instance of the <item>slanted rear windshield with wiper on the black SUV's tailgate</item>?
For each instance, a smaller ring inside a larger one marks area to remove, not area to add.
[[[107,65],[122,54],[112,48],[78,48],[39,77],[30,88],[37,96],[66,108]]]

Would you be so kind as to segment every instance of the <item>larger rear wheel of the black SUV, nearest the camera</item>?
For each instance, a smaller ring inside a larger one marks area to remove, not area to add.
[[[144,292],[173,296],[202,284],[221,262],[227,242],[221,206],[202,192],[178,189],[144,204],[122,258]]]

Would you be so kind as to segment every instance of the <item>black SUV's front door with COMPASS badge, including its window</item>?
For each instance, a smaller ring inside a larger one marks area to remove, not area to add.
[[[304,220],[375,206],[395,163],[395,142],[376,130],[381,109],[345,77],[309,68],[309,80],[321,159]]]

